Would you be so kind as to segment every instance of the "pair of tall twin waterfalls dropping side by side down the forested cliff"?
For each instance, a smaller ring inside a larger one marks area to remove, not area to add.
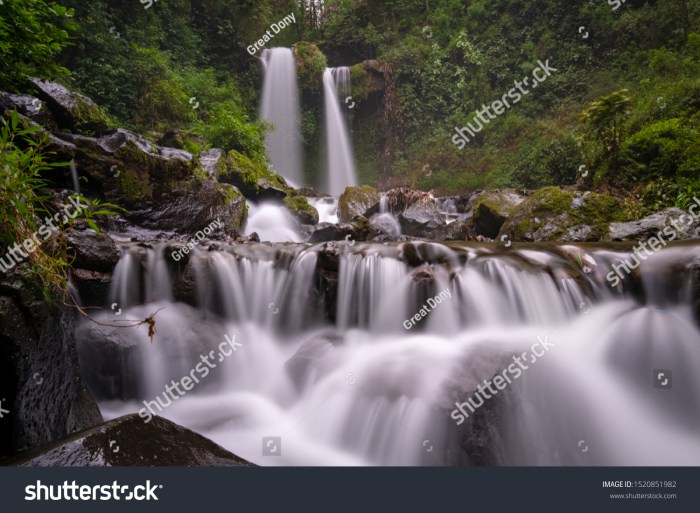
[[[273,48],[262,54],[265,69],[261,117],[273,125],[266,146],[273,169],[295,187],[305,183],[302,166],[301,113],[296,63],[289,48]],[[352,143],[339,95],[344,100],[350,91],[348,68],[327,69],[323,74],[326,110],[326,178],[323,192],[339,195],[346,187],[357,185]]]

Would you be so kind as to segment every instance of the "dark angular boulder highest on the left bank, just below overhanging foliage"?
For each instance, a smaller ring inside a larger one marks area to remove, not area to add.
[[[99,133],[109,127],[109,117],[87,96],[69,91],[55,82],[38,78],[31,79],[31,82],[60,128]]]

